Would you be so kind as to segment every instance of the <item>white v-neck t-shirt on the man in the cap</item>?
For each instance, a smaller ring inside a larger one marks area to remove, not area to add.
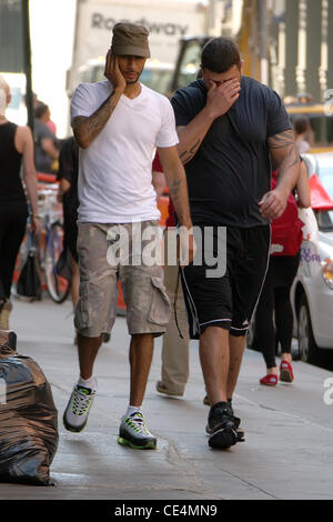
[[[155,147],[179,142],[170,101],[148,87],[121,96],[108,123],[79,152],[79,221],[130,223],[159,220],[152,185]],[[71,119],[90,117],[112,92],[109,80],[81,83],[72,98]]]

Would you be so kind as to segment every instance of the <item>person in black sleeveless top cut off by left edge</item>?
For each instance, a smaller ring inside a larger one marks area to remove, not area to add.
[[[31,231],[40,229],[32,133],[29,127],[18,127],[6,118],[10,100],[9,86],[0,76],[0,329],[3,330],[9,329],[12,278],[29,215],[21,165],[31,208]]]

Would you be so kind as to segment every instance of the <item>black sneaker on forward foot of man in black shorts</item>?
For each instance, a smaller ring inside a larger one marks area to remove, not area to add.
[[[239,442],[238,423],[233,411],[225,402],[218,402],[211,408],[208,426],[210,431],[209,445],[218,450],[228,450]]]

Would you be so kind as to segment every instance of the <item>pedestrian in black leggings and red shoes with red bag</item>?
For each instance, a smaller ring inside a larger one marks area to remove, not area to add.
[[[274,171],[272,189],[276,185],[276,175]],[[264,357],[266,375],[260,379],[260,383],[268,387],[278,384],[276,342],[281,344],[280,381],[293,382],[294,380],[292,369],[293,310],[290,291],[299,270],[304,225],[299,219],[297,205],[300,208],[311,205],[307,170],[304,162],[300,170],[295,197],[290,194],[284,213],[272,222],[269,269],[255,311],[253,344],[262,351]]]

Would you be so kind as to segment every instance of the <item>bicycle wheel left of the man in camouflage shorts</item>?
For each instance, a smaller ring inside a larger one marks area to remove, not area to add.
[[[56,303],[62,303],[70,291],[71,283],[56,273],[56,264],[62,252],[63,227],[53,223],[46,241],[44,250],[44,273],[50,298]]]

